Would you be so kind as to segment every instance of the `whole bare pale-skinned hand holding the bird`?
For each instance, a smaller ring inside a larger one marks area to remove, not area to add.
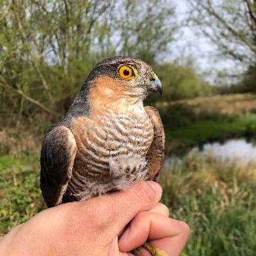
[[[126,191],[47,209],[10,230],[0,240],[0,254],[131,256],[148,240],[168,255],[180,255],[189,227],[169,218],[161,195],[159,184],[140,181]]]

